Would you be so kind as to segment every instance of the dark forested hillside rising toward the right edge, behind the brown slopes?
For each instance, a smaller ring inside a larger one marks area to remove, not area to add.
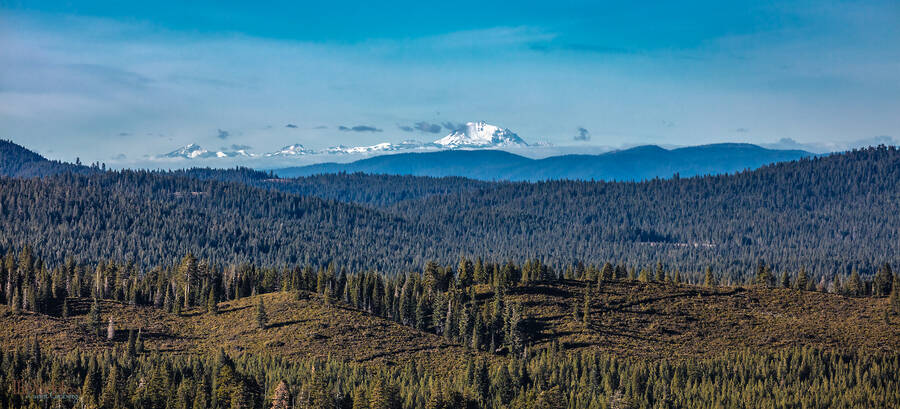
[[[849,275],[898,261],[897,181],[900,151],[882,147],[735,175],[502,184],[391,210],[466,238],[474,254],[662,261],[692,274],[712,265],[745,277],[762,259]]]

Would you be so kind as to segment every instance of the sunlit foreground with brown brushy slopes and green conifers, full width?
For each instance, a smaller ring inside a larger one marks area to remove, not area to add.
[[[892,407],[900,276],[701,284],[461,259],[385,276],[10,251],[9,407]],[[19,273],[22,273],[21,275]],[[12,285],[10,285],[12,283]],[[25,380],[25,382],[23,382]],[[48,395],[49,392],[49,395]]]

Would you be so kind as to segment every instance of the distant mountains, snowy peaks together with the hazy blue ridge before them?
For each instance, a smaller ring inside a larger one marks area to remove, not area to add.
[[[277,151],[256,154],[247,149],[210,151],[196,144],[174,150],[157,159],[202,160],[214,166],[217,159],[235,159],[243,166],[275,169],[282,177],[308,176],[340,172],[362,172],[387,175],[460,176],[479,180],[646,180],[673,175],[695,176],[722,174],[755,169],[760,166],[795,160],[813,155],[802,150],[767,149],[751,144],[713,144],[678,149],[655,145],[606,152],[599,155],[569,154],[531,159],[504,151],[530,146],[507,128],[483,121],[468,122],[443,138],[423,143],[407,140],[369,146],[338,145],[325,149],[309,149],[301,144],[285,146]],[[359,155],[350,163],[328,159],[332,155]],[[301,157],[306,157],[300,160]],[[300,163],[290,166],[291,159]]]

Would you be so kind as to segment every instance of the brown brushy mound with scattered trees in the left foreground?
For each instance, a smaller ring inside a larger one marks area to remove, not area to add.
[[[198,309],[182,315],[153,307],[136,307],[105,300],[102,303],[103,337],[89,326],[89,299],[69,299],[70,318],[30,312],[13,312],[0,306],[0,346],[23,345],[38,337],[42,348],[67,351],[122,347],[128,331],[141,330],[145,350],[166,354],[202,354],[223,348],[228,353],[271,354],[287,359],[332,357],[372,364],[386,362],[455,362],[464,348],[434,334],[416,331],[393,321],[342,305],[326,305],[321,297],[295,299],[293,293],[272,293],[219,303],[219,313]],[[268,324],[256,325],[259,299],[265,302]],[[116,336],[106,340],[109,317]]]

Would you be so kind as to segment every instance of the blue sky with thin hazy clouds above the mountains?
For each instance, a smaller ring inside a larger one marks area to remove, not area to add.
[[[898,22],[896,1],[12,0],[0,137],[120,163],[473,120],[557,146],[896,143]]]

